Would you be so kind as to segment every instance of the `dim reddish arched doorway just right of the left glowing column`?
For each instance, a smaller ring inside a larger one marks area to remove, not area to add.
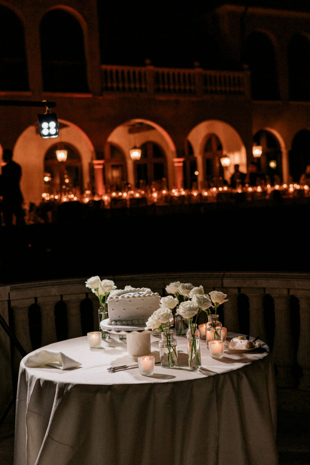
[[[127,180],[127,167],[124,152],[119,146],[107,144],[104,173],[106,185],[113,191],[121,190]]]

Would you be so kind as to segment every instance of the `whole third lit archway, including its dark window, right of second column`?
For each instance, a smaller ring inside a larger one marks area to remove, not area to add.
[[[230,183],[234,165],[239,165],[241,173],[246,173],[246,150],[244,143],[230,124],[220,120],[207,120],[195,126],[187,136],[197,162],[198,188],[210,183]],[[221,165],[221,156],[226,155],[230,166]],[[186,159],[188,156],[186,155]],[[189,157],[191,158],[191,157]],[[223,176],[223,179],[220,179]],[[187,179],[188,184],[190,179]]]

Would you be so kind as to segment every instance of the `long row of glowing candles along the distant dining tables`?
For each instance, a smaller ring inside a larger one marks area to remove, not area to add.
[[[262,193],[266,192],[270,194],[272,191],[282,191],[284,193],[292,194],[295,191],[303,191],[304,195],[310,194],[310,187],[308,185],[300,186],[297,183],[294,184],[276,184],[271,186],[267,184],[266,186],[240,186],[236,189],[232,189],[229,186],[220,186],[220,187],[211,187],[209,189],[172,189],[168,191],[168,189],[156,190],[152,188],[151,191],[144,191],[144,190],[127,190],[127,191],[112,191],[106,193],[102,196],[99,195],[92,195],[90,190],[86,190],[83,195],[78,195],[74,193],[62,193],[62,194],[50,194],[50,193],[42,193],[42,199],[45,201],[58,201],[58,202],[68,202],[68,201],[76,201],[79,200],[83,203],[88,203],[90,200],[104,200],[105,205],[109,205],[112,199],[132,199],[132,198],[147,198],[151,202],[157,202],[158,199],[165,199],[170,197],[187,197],[189,195],[193,195],[194,197],[203,196],[203,197],[216,197],[218,193]]]

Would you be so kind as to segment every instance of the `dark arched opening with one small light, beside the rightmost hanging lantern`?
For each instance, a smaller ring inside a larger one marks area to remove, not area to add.
[[[282,182],[282,152],[276,136],[265,129],[253,136],[253,143],[262,146],[262,155],[257,158],[257,171],[261,172],[267,184]]]

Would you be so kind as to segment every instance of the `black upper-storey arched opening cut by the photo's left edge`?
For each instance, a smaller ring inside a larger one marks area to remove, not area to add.
[[[24,27],[18,16],[0,5],[0,90],[29,90]]]

